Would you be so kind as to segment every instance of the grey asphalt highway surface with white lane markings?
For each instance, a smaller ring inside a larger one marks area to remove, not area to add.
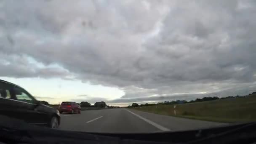
[[[73,115],[62,114],[60,129],[99,133],[149,133],[193,130],[221,125],[226,124],[120,108],[88,110]]]

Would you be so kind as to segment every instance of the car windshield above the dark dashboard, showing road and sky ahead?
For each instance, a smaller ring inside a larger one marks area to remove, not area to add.
[[[97,133],[256,121],[254,0],[2,0],[0,115]]]

